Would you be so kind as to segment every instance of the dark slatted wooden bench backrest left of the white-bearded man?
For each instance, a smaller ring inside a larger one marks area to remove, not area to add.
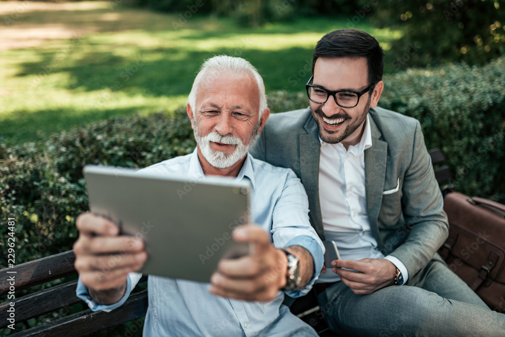
[[[62,278],[72,274],[77,274],[74,269],[75,255],[73,251],[44,257],[38,260],[16,265],[14,268],[0,270],[0,275],[14,275],[14,287],[18,292],[35,285],[39,285],[57,278]],[[9,271],[9,273],[7,273]],[[2,277],[0,280],[0,296],[7,295],[10,291],[9,277]],[[147,277],[140,279],[145,282]],[[11,281],[12,282],[12,281]],[[15,333],[17,337],[22,336],[62,336],[67,337],[69,331],[72,336],[85,336],[92,332],[104,330],[106,328],[128,322],[145,315],[147,310],[147,291],[141,291],[130,296],[121,307],[107,312],[93,312],[90,309],[71,314],[72,305],[82,302],[75,295],[77,280],[63,283],[33,294],[16,297],[13,301],[6,301],[0,304],[0,328],[7,327],[9,323],[9,312],[7,311],[10,302],[14,302],[16,323],[38,317],[49,312],[59,312],[63,316],[52,322],[38,325],[27,330]],[[12,333],[11,333],[12,334]]]

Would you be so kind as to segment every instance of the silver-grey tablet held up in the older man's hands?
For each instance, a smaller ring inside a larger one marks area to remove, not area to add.
[[[247,182],[94,165],[83,172],[91,212],[145,241],[142,273],[210,282],[221,258],[250,252],[249,244],[231,238],[236,226],[250,222]]]

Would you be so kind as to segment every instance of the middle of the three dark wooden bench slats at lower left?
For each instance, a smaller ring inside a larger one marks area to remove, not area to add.
[[[9,301],[15,303],[16,322],[22,322],[58,309],[68,313],[71,309],[70,306],[82,302],[80,298],[75,296],[76,287],[77,280]],[[7,321],[9,302],[0,304],[0,322],[2,322],[0,328],[9,324]]]

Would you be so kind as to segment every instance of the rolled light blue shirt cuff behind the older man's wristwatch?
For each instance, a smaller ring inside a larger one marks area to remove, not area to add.
[[[289,291],[284,291],[284,293],[292,298],[297,298],[301,297],[304,295],[307,295],[311,289],[312,286],[314,285],[314,282],[316,282],[317,278],[319,277],[319,273],[321,272],[321,268],[323,267],[324,263],[324,252],[323,249],[321,248],[321,245],[313,238],[308,235],[302,235],[302,236],[297,236],[291,240],[289,240],[284,247],[281,248],[286,248],[290,246],[300,246],[304,247],[311,253],[312,259],[314,260],[314,273],[312,275],[311,280],[305,286],[305,288],[300,289],[300,290],[289,290]]]

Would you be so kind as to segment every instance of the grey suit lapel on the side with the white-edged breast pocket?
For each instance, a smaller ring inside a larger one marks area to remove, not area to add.
[[[370,116],[370,115],[369,115]],[[370,116],[372,147],[365,150],[365,191],[370,228],[380,244],[377,218],[382,203],[382,192],[386,179],[387,143],[380,140],[381,133]]]

